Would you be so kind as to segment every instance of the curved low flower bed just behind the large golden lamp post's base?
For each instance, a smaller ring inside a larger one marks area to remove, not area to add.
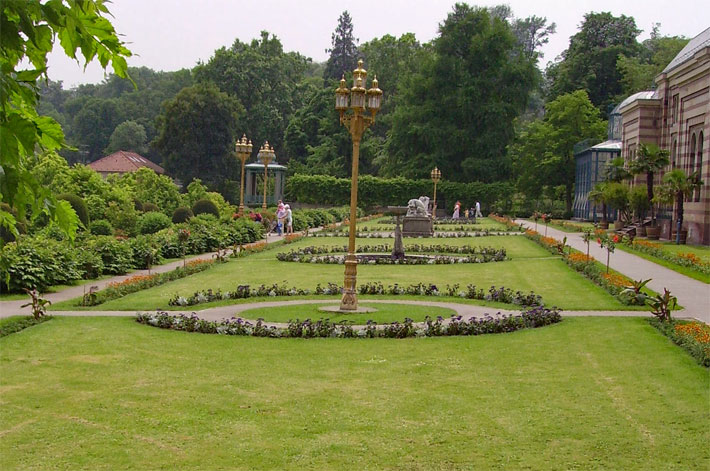
[[[246,299],[260,297],[276,297],[276,296],[308,296],[315,295],[334,295],[341,294],[342,287],[335,283],[328,283],[326,286],[321,286],[319,283],[314,290],[292,288],[288,285],[279,285],[275,283],[271,286],[260,285],[257,288],[251,288],[249,285],[239,285],[234,291],[222,290],[203,290],[197,291],[192,296],[184,297],[178,294],[174,295],[169,301],[170,306],[194,306],[196,304],[204,304],[223,299]],[[459,284],[446,285],[446,289],[439,290],[436,285],[431,284],[411,284],[409,286],[400,286],[398,284],[384,286],[382,283],[364,283],[358,286],[358,292],[361,295],[415,295],[415,296],[455,296],[465,299],[478,299],[482,301],[495,301],[505,304],[517,304],[521,306],[542,306],[542,297],[532,291],[524,294],[520,291],[513,291],[510,288],[503,286],[496,288],[491,286],[488,291],[482,288],[476,288],[475,285],[469,284],[465,289],[462,289]]]

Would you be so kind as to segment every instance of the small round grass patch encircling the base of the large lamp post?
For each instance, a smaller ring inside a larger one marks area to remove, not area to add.
[[[453,309],[433,306],[413,306],[407,304],[385,304],[385,303],[358,303],[360,307],[371,307],[377,309],[376,312],[363,312],[360,314],[338,314],[334,312],[319,311],[319,307],[337,306],[338,301],[324,304],[301,304],[297,306],[284,307],[262,307],[243,311],[240,316],[244,319],[264,319],[269,322],[288,322],[290,320],[318,320],[330,319],[332,322],[351,321],[354,324],[367,324],[368,320],[373,320],[378,324],[389,322],[402,322],[405,317],[409,317],[414,322],[422,322],[426,316],[436,319],[441,316],[448,319],[456,314]]]

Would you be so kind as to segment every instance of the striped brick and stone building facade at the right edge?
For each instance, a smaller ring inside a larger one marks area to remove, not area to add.
[[[653,143],[670,153],[669,165],[656,175],[681,169],[698,172],[703,184],[684,202],[683,228],[688,242],[710,245],[710,28],[693,38],[656,77],[656,90],[640,92],[619,106],[622,155],[636,156],[640,143]],[[640,175],[634,184],[643,184]],[[674,208],[659,214],[661,237],[671,237]]]

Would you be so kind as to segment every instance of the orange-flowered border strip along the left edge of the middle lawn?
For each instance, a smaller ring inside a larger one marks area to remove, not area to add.
[[[201,271],[207,270],[214,265],[214,260],[197,259],[191,260],[184,267],[177,267],[175,270],[166,273],[154,273],[152,275],[135,275],[126,278],[123,281],[109,283],[108,286],[101,291],[89,290],[85,293],[80,306],[97,306],[106,301],[118,299],[127,294],[135,293],[153,286],[162,285],[169,281],[174,281],[186,276],[194,275]]]

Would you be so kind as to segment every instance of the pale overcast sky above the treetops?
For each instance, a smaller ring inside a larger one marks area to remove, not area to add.
[[[324,61],[338,16],[347,9],[354,35],[360,43],[385,34],[412,32],[421,42],[437,34],[438,26],[452,10],[452,0],[113,0],[109,9],[116,31],[134,56],[129,66],[172,71],[208,61],[215,49],[231,45],[236,38],[248,42],[262,30],[275,34],[286,51],[297,51]],[[661,23],[664,35],[692,38],[710,26],[710,1],[683,0],[510,0],[469,2],[492,6],[507,3],[516,17],[546,17],[557,24],[557,33],[543,48],[544,67],[569,44],[590,11],[610,11],[633,16],[648,38],[653,23]],[[50,56],[49,77],[62,80],[64,88],[98,83],[104,78],[96,64],[86,71],[69,60],[57,42]]]

